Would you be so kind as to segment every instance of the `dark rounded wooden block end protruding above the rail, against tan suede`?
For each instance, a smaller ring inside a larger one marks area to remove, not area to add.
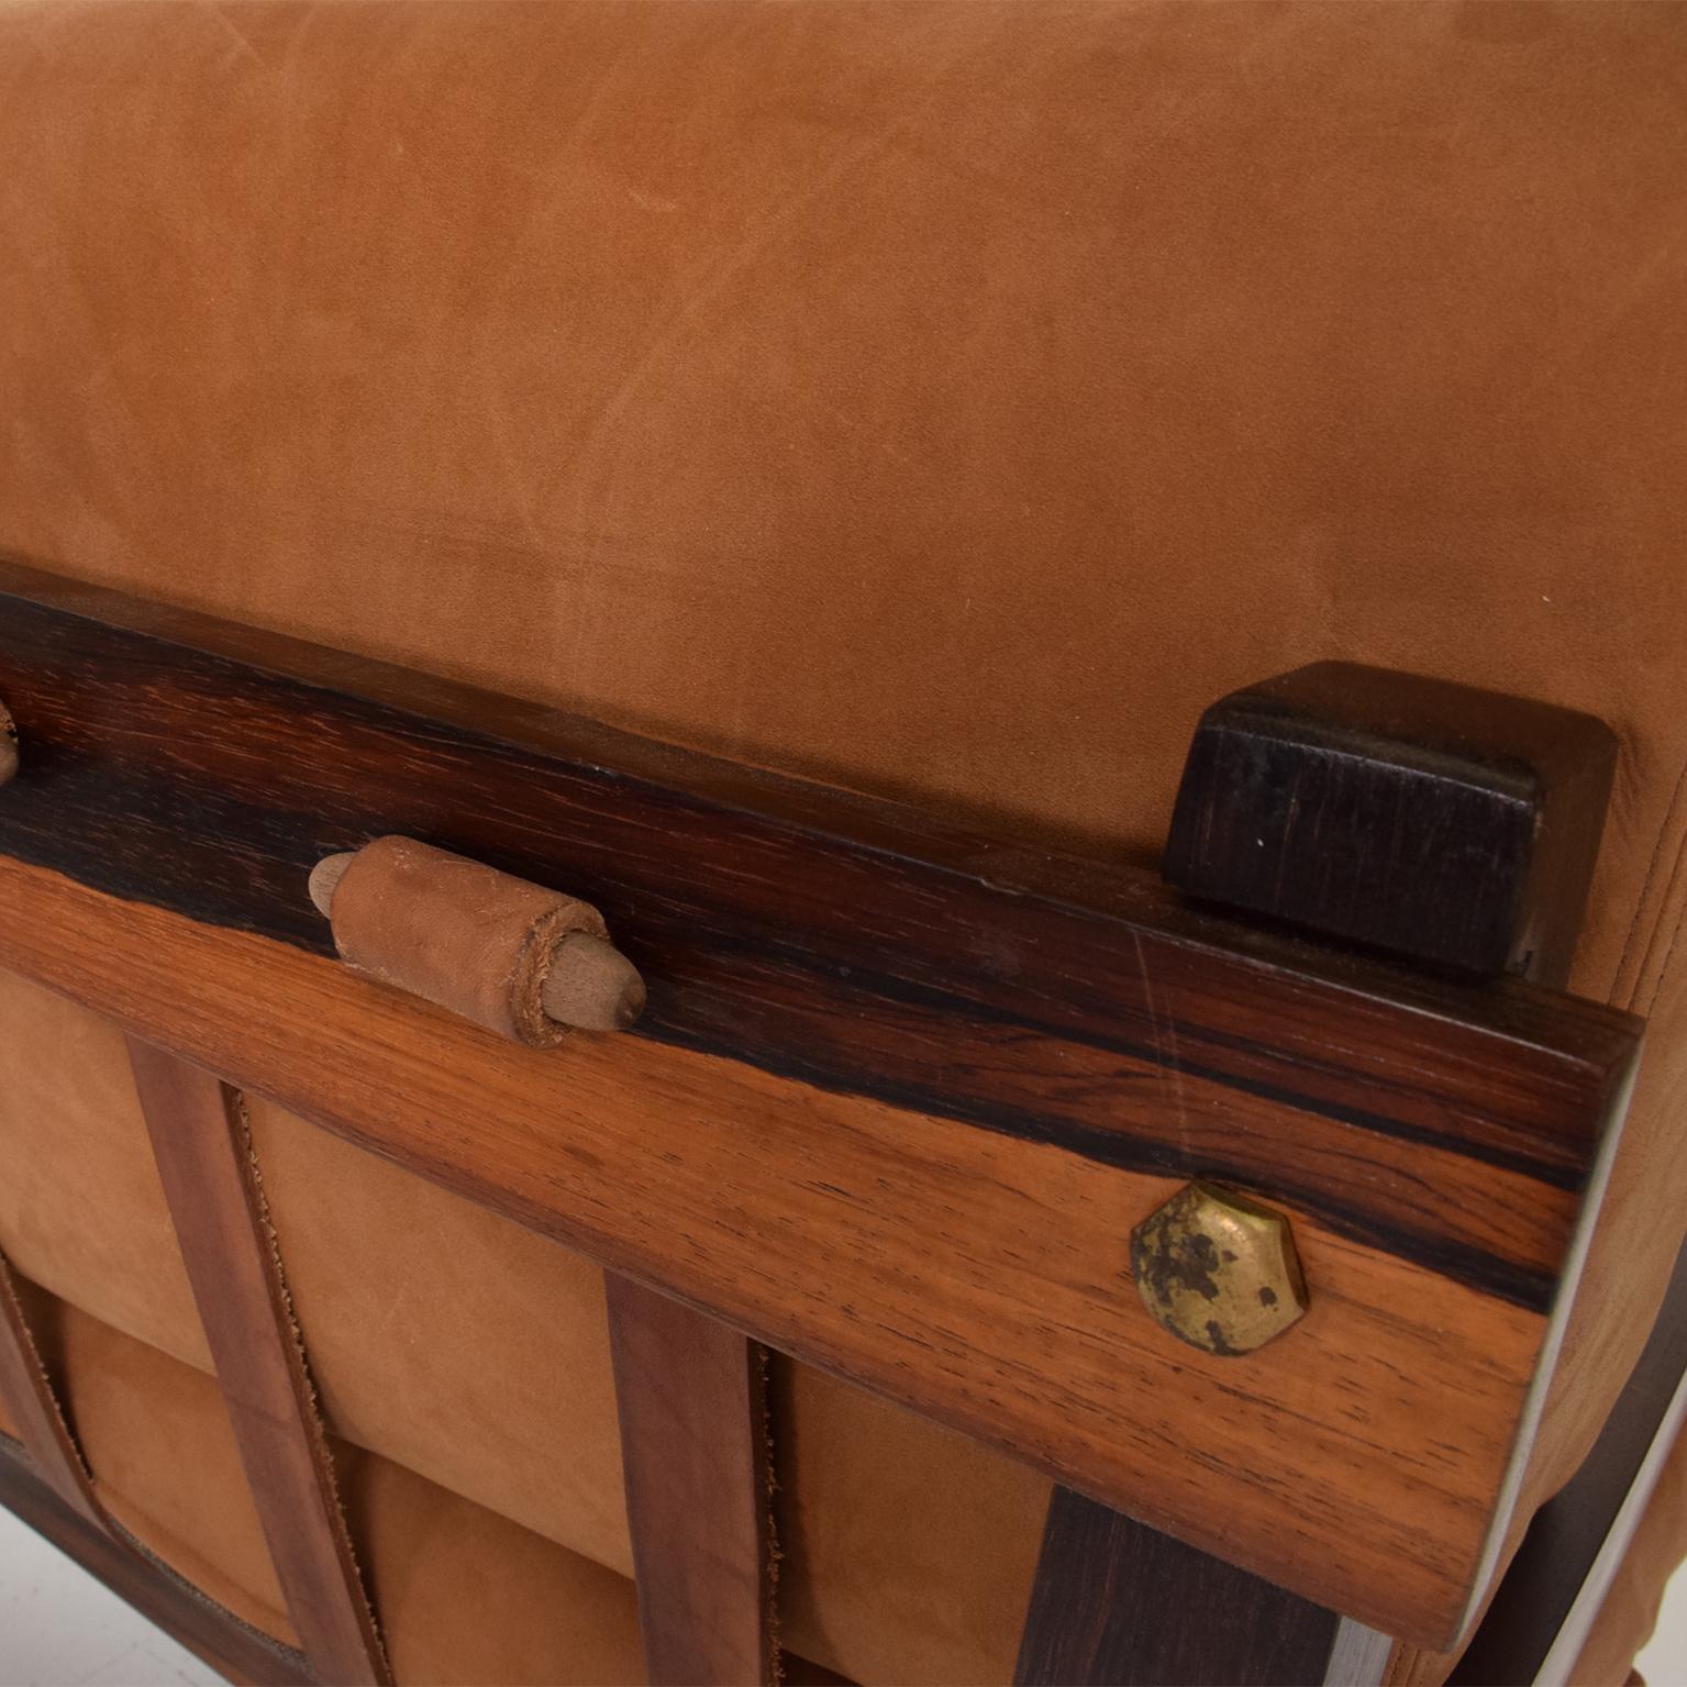
[[[1616,768],[1593,715],[1321,661],[1215,703],[1166,877],[1481,973],[1569,973]]]

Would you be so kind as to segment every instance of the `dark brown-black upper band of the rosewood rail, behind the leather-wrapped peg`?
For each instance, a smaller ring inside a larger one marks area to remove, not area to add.
[[[1447,997],[1206,921],[1142,876],[15,565],[0,695],[22,742],[0,850],[19,860],[327,953],[310,865],[415,837],[601,908],[649,982],[639,1036],[1269,1188],[1542,1311],[1596,1140],[1559,1068],[1608,1083],[1633,1043],[1606,1009]],[[1434,1054],[1407,1004],[1441,1021]],[[1513,1039],[1550,1058],[1527,1070]],[[1501,1230],[1491,1174],[1517,1184]]]

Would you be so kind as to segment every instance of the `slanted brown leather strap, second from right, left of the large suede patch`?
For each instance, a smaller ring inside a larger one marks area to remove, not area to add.
[[[128,1039],[164,1194],[287,1613],[327,1682],[391,1672],[363,1593],[238,1095]]]

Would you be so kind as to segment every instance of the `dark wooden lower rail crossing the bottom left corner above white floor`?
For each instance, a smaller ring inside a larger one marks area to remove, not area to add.
[[[64,1503],[0,1436],[0,1505],[233,1682],[315,1687],[304,1655],[248,1628],[160,1564],[125,1530],[108,1533]]]

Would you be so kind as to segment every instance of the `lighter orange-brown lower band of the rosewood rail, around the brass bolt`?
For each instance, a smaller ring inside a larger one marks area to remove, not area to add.
[[[612,1270],[1373,1626],[1463,1618],[1537,1314],[1287,1206],[1312,1311],[1211,1358],[1129,1275],[1176,1179],[646,1039],[520,1049],[5,859],[0,901],[0,965]]]

